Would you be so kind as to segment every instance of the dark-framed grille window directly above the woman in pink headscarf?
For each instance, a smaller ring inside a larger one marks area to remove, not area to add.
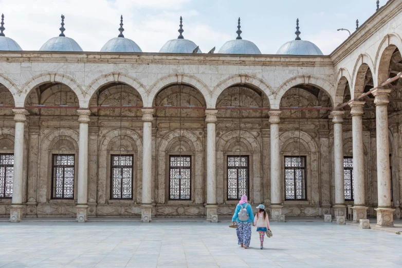
[[[228,200],[248,196],[248,156],[228,156]]]

